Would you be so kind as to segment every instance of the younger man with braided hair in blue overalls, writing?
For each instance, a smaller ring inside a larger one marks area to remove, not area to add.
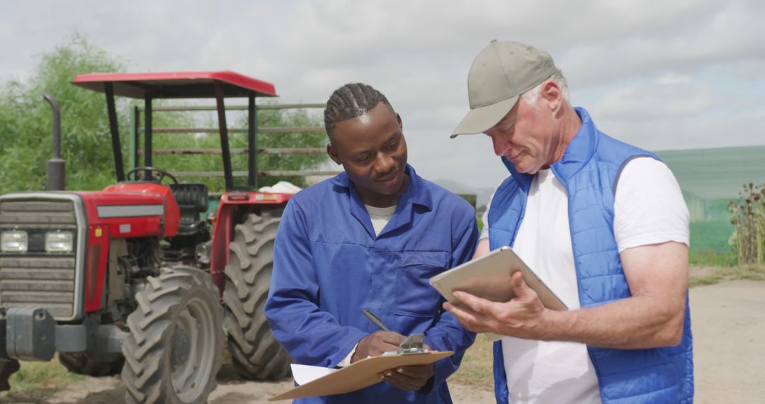
[[[415,333],[454,355],[386,371],[384,383],[353,393],[295,402],[451,402],[445,380],[475,335],[441,308],[428,279],[473,256],[475,212],[407,165],[402,120],[371,86],[336,90],[324,125],[327,153],[345,172],[298,192],[282,216],[265,304],[276,339],[297,363],[321,367],[396,350]]]

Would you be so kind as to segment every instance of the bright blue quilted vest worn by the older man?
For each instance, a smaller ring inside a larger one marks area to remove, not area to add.
[[[597,130],[587,111],[576,108],[581,129],[551,169],[568,193],[571,243],[581,307],[629,298],[614,239],[614,193],[621,168],[631,158],[656,155]],[[497,188],[489,210],[491,249],[513,246],[523,219],[533,176],[521,174],[503,158],[512,174]],[[675,347],[617,350],[588,346],[604,403],[692,402],[691,318],[685,303],[682,341]],[[494,344],[497,403],[508,402],[502,343]]]

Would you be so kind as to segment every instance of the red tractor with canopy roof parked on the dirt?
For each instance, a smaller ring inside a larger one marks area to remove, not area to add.
[[[242,376],[287,376],[291,358],[274,339],[263,305],[279,217],[291,194],[258,192],[257,178],[334,173],[258,171],[257,155],[269,151],[256,145],[256,97],[276,96],[274,86],[230,71],[94,73],[73,84],[106,94],[118,182],[103,191],[55,191],[63,190],[64,176],[54,155],[49,191],[0,197],[0,389],[9,388],[18,360],[58,353],[76,373],[121,372],[125,402],[203,403],[216,387],[224,334]],[[145,100],[142,153],[138,137],[132,148],[135,165],[141,157],[144,163],[127,174],[115,96]],[[244,172],[232,168],[226,97],[248,99],[249,125],[238,129],[248,147],[234,150],[248,156]],[[214,214],[206,215],[206,184],[179,182],[184,173],[151,166],[151,101],[183,98],[216,99],[226,192]],[[57,105],[49,102],[57,153]],[[236,186],[235,174],[247,184]]]

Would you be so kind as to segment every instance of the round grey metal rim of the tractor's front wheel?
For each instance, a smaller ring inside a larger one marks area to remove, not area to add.
[[[184,341],[184,347],[171,347],[171,380],[173,390],[182,402],[193,402],[203,393],[215,359],[215,325],[213,312],[200,298],[192,298],[178,315],[173,343]],[[181,334],[182,337],[178,337]],[[173,350],[182,350],[174,352]]]

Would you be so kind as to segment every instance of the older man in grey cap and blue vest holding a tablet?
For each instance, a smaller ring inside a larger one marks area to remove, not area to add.
[[[569,308],[545,308],[519,273],[511,301],[455,292],[461,305],[444,304],[503,336],[497,402],[692,402],[688,209],[672,172],[571,107],[538,48],[492,41],[467,86],[452,137],[488,135],[510,173],[476,257],[512,246]]]

